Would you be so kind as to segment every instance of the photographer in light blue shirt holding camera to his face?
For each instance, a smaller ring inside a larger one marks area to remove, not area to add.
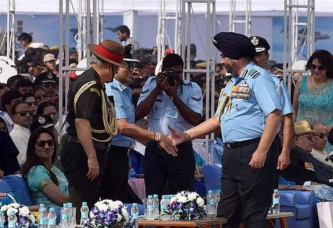
[[[169,54],[162,62],[162,72],[150,77],[137,105],[137,117],[149,115],[150,131],[170,134],[168,125],[186,131],[198,123],[203,113],[202,93],[198,84],[182,79],[184,61]],[[191,141],[177,146],[178,153],[170,155],[159,149],[157,142],[148,142],[144,155],[146,195],[164,194],[166,182],[169,193],[193,189],[196,161]]]

